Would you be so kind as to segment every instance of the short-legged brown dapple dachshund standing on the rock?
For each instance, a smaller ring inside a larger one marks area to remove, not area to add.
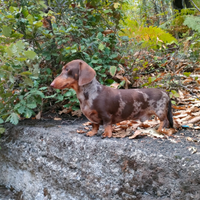
[[[92,131],[97,134],[103,124],[103,137],[112,136],[112,124],[129,119],[145,121],[156,115],[163,127],[173,127],[171,101],[160,89],[114,89],[101,85],[96,72],[82,60],[67,63],[62,73],[51,83],[57,89],[73,88],[76,91],[83,114],[92,122]]]

